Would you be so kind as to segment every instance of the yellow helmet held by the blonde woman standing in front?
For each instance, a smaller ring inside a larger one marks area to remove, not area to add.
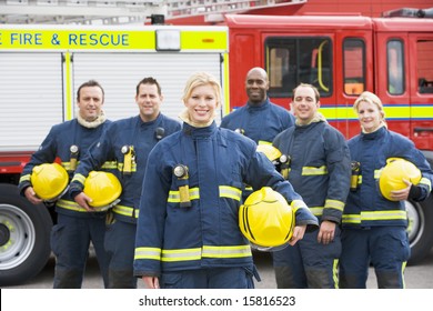
[[[239,209],[241,232],[259,250],[285,248],[293,234],[294,220],[294,210],[270,187],[251,193]]]

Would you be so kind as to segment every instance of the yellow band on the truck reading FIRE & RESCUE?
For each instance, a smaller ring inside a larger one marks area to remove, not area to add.
[[[125,50],[155,51],[157,28],[141,29],[8,29],[0,30],[0,48],[3,50]],[[160,28],[177,29],[177,28]],[[181,30],[181,50],[221,50],[226,52],[226,28],[214,31]]]

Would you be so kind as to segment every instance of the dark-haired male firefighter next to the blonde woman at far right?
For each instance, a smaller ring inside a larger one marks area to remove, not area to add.
[[[320,220],[294,247],[272,253],[278,288],[338,288],[340,224],[350,189],[350,152],[344,137],[318,111],[319,91],[311,84],[293,90],[295,127],[273,146],[290,158],[281,170]]]

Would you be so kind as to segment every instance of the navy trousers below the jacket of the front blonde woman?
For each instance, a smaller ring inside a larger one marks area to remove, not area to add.
[[[163,272],[161,289],[253,289],[254,268],[209,268]]]

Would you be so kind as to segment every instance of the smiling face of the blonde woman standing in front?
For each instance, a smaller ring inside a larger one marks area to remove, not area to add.
[[[211,84],[201,84],[192,89],[184,99],[190,120],[197,124],[209,124],[215,117],[218,97]]]

